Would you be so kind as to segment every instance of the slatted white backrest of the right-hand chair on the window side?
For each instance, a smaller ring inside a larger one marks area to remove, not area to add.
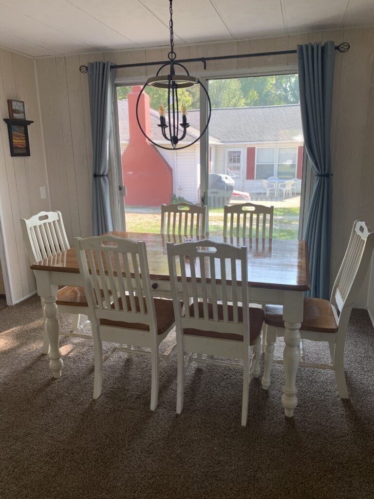
[[[273,216],[274,206],[254,205],[252,203],[225,205],[223,208],[223,236],[272,239]]]

